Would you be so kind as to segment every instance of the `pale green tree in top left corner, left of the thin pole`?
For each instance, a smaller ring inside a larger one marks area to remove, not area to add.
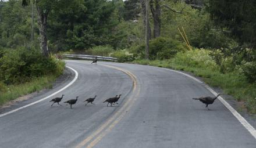
[[[16,48],[17,46],[31,45],[30,11],[30,8],[22,8],[20,1],[10,0],[1,6],[0,46]]]

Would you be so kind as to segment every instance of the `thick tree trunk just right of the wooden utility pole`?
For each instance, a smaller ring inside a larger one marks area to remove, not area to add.
[[[154,20],[154,38],[160,37],[161,33],[161,6],[159,4],[160,0],[155,1],[155,8],[153,0],[150,0],[150,10]]]

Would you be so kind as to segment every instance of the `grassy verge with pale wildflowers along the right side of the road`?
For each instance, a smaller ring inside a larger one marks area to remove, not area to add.
[[[256,114],[256,84],[247,82],[238,71],[222,74],[219,67],[208,55],[207,50],[193,50],[178,53],[169,60],[135,60],[133,63],[156,67],[172,68],[193,73],[211,86],[218,86],[224,93],[232,95],[237,101],[244,102],[248,113]]]

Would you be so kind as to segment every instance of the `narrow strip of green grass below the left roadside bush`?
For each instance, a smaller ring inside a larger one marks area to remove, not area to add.
[[[0,105],[10,100],[19,98],[32,92],[52,88],[56,78],[63,73],[65,63],[59,61],[55,74],[44,75],[43,77],[31,78],[29,82],[16,85],[4,85],[0,82]]]

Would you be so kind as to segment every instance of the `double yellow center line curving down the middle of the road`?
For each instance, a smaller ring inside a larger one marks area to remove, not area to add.
[[[90,136],[88,136],[86,139],[80,142],[79,145],[76,146],[76,148],[90,148],[95,146],[99,142],[99,140],[101,140],[109,131],[111,131],[111,129],[113,129],[113,127],[115,127],[115,125],[118,124],[118,122],[125,116],[127,111],[130,110],[133,103],[137,100],[138,95],[140,93],[140,85],[137,84],[137,78],[134,74],[130,73],[130,71],[105,64],[102,64],[102,66],[115,68],[116,70],[120,70],[123,73],[129,75],[129,77],[133,81],[133,90],[129,98],[127,98],[125,104],[122,106],[122,108],[116,111],[116,113],[113,114],[112,117],[109,118],[103,125],[101,125],[101,127],[99,127],[95,132],[93,132]]]

